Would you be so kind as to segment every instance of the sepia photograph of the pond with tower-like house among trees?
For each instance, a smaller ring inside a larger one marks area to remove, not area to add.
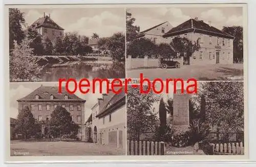
[[[9,8],[10,81],[125,78],[123,8]]]

